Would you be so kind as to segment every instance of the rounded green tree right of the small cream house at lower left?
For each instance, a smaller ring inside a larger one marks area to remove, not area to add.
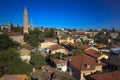
[[[33,65],[34,68],[40,69],[43,65],[46,64],[45,57],[38,53],[31,53],[30,63]]]

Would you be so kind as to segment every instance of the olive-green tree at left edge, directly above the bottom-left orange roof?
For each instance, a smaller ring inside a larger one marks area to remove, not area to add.
[[[4,74],[27,74],[32,72],[32,66],[23,62],[17,50],[9,48],[0,51],[0,76]]]

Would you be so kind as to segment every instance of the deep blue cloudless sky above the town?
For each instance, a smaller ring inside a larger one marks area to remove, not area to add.
[[[120,29],[120,0],[0,0],[0,25],[23,25],[24,7],[34,26]]]

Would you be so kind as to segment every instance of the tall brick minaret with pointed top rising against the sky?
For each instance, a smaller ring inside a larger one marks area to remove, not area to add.
[[[24,26],[23,26],[23,33],[28,34],[28,12],[26,7],[24,8]]]

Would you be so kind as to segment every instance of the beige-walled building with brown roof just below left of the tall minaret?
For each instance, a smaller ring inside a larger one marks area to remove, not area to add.
[[[8,32],[7,34],[9,36],[9,38],[12,39],[13,41],[18,42],[21,45],[26,44],[24,42],[24,36],[20,32]]]

